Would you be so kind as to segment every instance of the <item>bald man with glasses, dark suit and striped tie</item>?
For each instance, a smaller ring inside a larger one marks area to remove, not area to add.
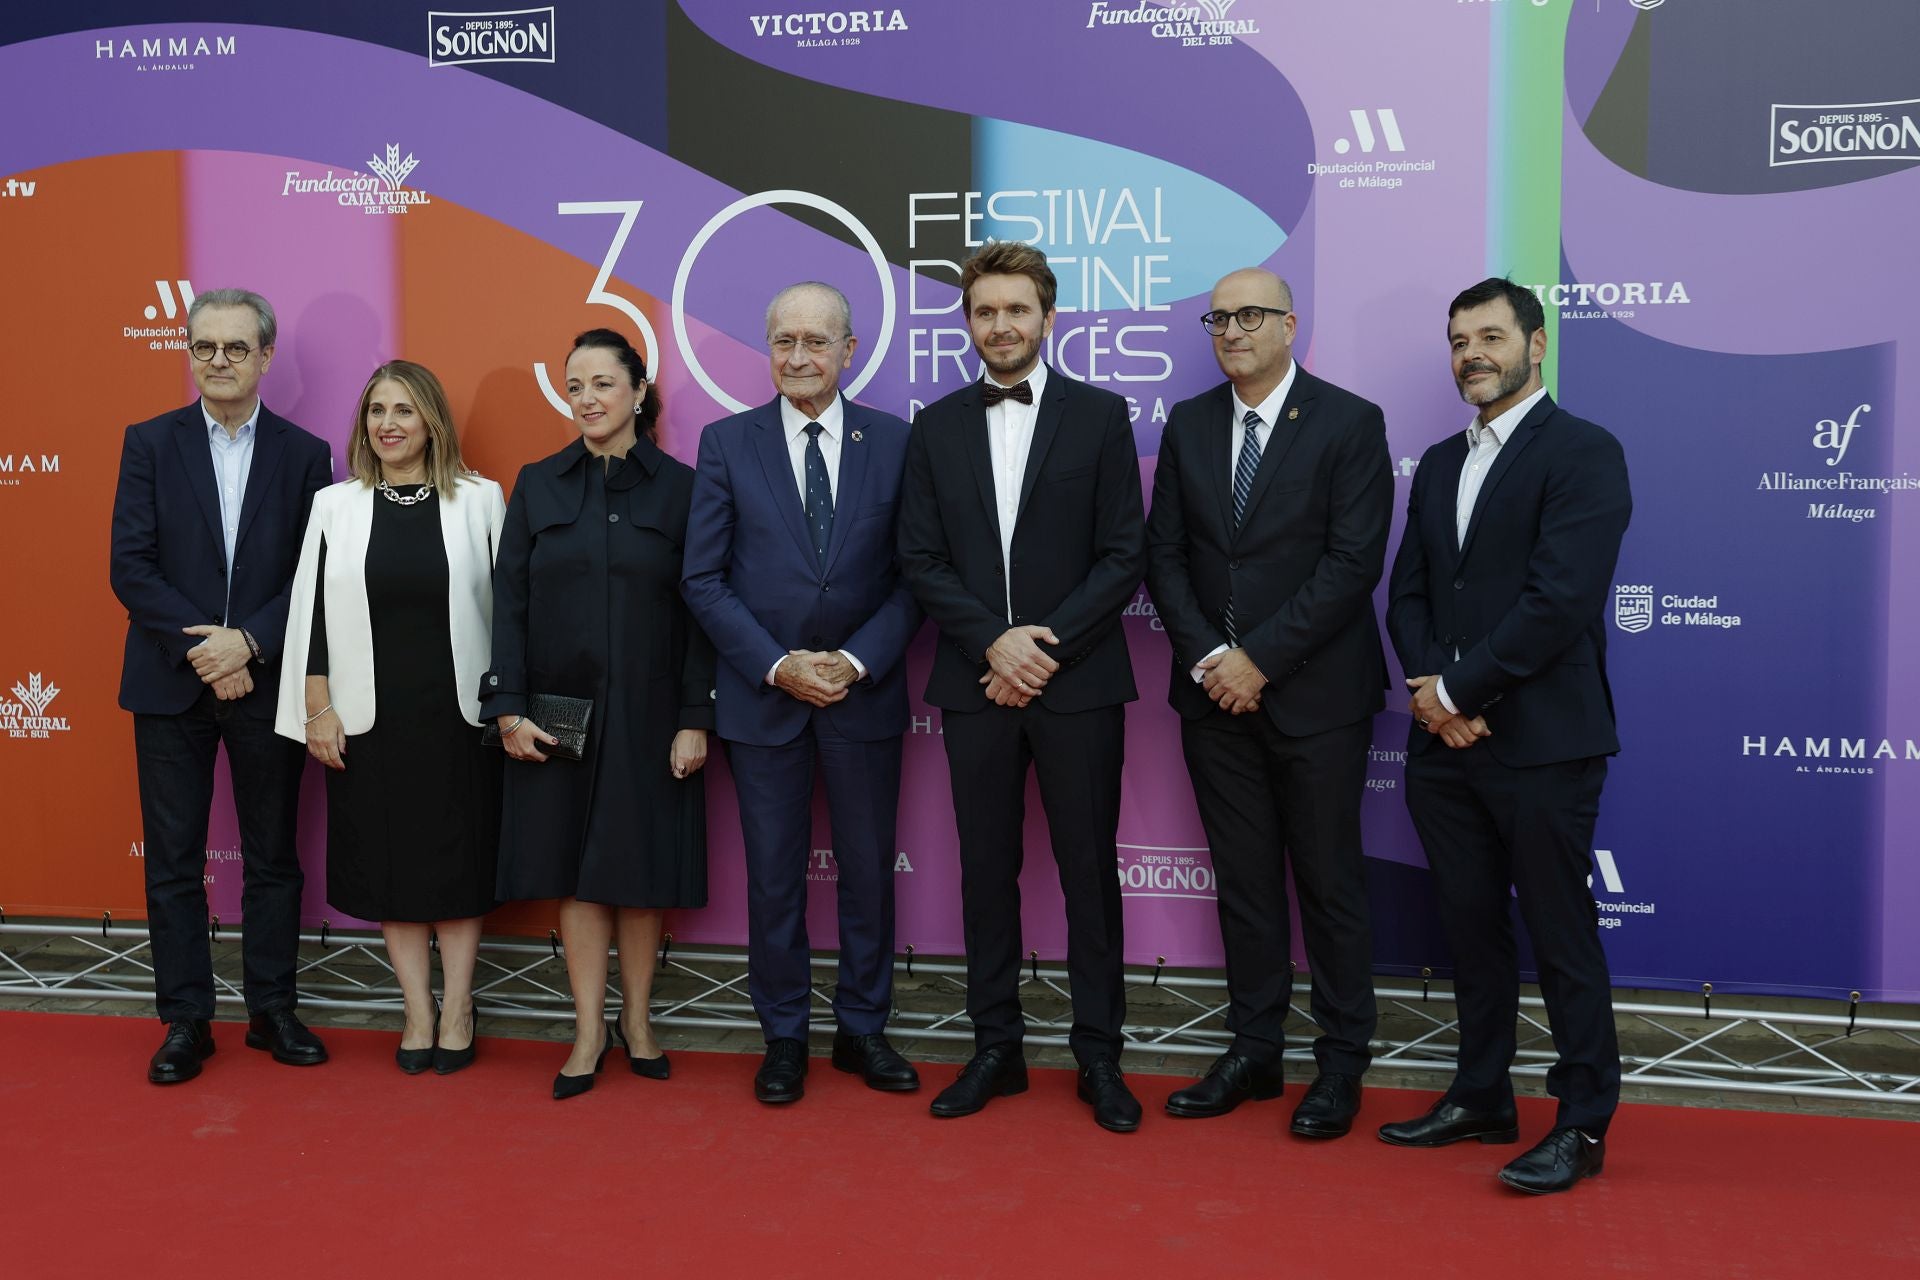
[[[1167,1113],[1281,1094],[1290,864],[1321,1032],[1290,1128],[1340,1138],[1375,1029],[1359,800],[1386,687],[1373,616],[1394,514],[1386,422],[1300,368],[1292,290],[1271,271],[1227,274],[1200,322],[1227,382],[1167,416],[1146,585],[1219,877],[1233,1044]]]

